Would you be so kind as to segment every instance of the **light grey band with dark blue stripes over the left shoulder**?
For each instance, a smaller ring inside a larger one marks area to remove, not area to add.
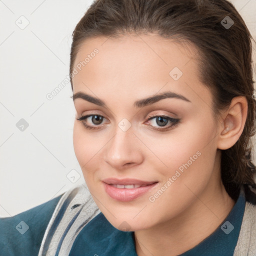
[[[80,230],[99,212],[85,183],[66,191],[47,225],[38,255],[68,254]]]

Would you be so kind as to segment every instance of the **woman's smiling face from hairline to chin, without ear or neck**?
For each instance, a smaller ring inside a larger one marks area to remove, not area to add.
[[[77,53],[76,118],[89,117],[74,121],[74,151],[118,229],[178,217],[219,184],[218,123],[196,53],[155,34],[91,38]]]

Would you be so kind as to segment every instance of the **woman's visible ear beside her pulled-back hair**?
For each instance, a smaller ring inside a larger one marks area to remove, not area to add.
[[[247,117],[248,103],[244,96],[232,98],[227,110],[221,114],[217,148],[228,149],[239,139]]]

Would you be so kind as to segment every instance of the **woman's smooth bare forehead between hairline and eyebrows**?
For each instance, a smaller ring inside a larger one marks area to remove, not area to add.
[[[89,92],[91,88],[97,95],[114,91],[131,96],[136,91],[141,98],[145,91],[150,95],[166,88],[177,93],[186,90],[194,98],[198,93],[209,97],[198,78],[198,58],[192,43],[156,34],[89,38],[80,45],[74,61],[78,72],[72,79],[73,90]]]

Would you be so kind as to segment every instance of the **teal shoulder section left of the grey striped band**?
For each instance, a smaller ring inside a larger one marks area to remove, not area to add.
[[[37,255],[43,233],[62,195],[12,217],[0,218],[1,255]]]

